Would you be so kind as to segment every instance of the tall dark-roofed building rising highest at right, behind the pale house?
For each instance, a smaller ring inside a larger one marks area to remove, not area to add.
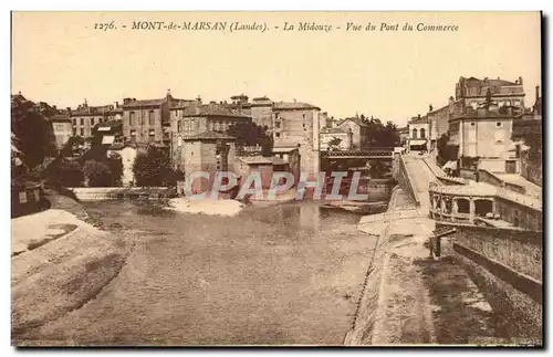
[[[462,101],[463,107],[478,108],[486,103],[488,91],[492,101],[501,106],[524,107],[524,87],[522,77],[514,82],[498,77],[479,80],[476,77],[460,77],[456,84],[456,101]]]

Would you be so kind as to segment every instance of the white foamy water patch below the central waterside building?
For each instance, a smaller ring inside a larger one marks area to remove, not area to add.
[[[190,200],[179,197],[169,200],[167,209],[186,213],[232,217],[240,213],[243,208],[244,204],[236,200]]]

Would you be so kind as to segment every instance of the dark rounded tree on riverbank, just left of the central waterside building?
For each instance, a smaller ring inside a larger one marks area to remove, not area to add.
[[[146,154],[136,156],[133,172],[136,186],[175,186],[177,172],[171,167],[169,156],[159,148],[150,146]]]

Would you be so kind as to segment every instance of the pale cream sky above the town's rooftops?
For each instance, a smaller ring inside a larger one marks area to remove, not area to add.
[[[94,29],[111,21],[118,29]],[[133,21],[255,22],[269,30],[133,30]],[[284,31],[285,22],[294,30]],[[300,22],[333,29],[298,31]],[[362,31],[346,31],[348,22]],[[368,23],[376,30],[364,31]],[[382,23],[399,31],[378,31]],[[400,31],[405,23],[458,31]],[[204,102],[244,93],[405,125],[430,104],[446,105],[460,76],[521,76],[532,105],[540,35],[539,12],[13,12],[11,90],[58,107],[159,98],[167,90]]]

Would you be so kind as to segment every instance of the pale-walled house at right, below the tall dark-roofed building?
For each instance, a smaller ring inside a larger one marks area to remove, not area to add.
[[[511,136],[513,120],[520,117],[511,107],[491,106],[449,119],[449,144],[458,146],[461,175],[471,178],[478,169],[518,172]]]

